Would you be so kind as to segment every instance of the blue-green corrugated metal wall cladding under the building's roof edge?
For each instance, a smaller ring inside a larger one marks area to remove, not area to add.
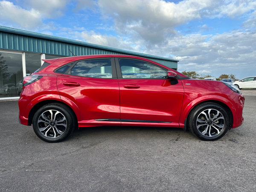
[[[104,47],[103,47],[104,48]],[[99,54],[121,54],[128,55],[128,53],[111,51],[107,49],[99,49],[95,47],[88,47],[84,45],[72,44],[61,41],[54,41],[44,38],[20,35],[15,33],[0,31],[0,49],[9,49],[23,52],[35,52],[44,53],[50,55],[61,55],[61,56],[73,56],[69,49],[74,55],[99,55]],[[127,52],[127,51],[126,51]],[[134,55],[129,54],[129,55]],[[143,55],[143,54],[142,54]],[[145,54],[146,55],[146,54]],[[136,54],[136,56],[138,56]],[[141,56],[141,55],[139,55]],[[143,56],[142,56],[143,57]],[[163,64],[167,67],[177,69],[176,61],[169,61],[157,58],[150,58],[152,61]]]

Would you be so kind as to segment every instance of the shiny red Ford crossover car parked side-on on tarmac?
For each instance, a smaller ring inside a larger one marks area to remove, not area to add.
[[[86,55],[44,60],[23,79],[19,121],[47,142],[76,127],[104,125],[188,128],[217,140],[244,119],[244,96],[221,81],[190,79],[130,55]]]

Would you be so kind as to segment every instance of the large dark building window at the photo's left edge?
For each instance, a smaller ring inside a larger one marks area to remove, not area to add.
[[[0,52],[0,98],[19,96],[22,79],[22,55]]]

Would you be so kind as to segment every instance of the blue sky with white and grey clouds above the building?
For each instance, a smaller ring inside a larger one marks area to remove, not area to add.
[[[0,0],[0,25],[256,76],[256,0]]]

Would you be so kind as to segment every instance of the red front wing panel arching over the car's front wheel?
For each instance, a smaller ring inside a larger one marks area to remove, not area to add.
[[[237,113],[242,113],[243,105],[241,105],[239,99],[244,102],[243,95],[235,93],[221,81],[186,79],[182,82],[185,94],[180,123],[184,123],[189,112],[199,103],[215,100],[226,104],[230,108],[234,119],[233,127],[238,127],[235,119],[237,119]]]

